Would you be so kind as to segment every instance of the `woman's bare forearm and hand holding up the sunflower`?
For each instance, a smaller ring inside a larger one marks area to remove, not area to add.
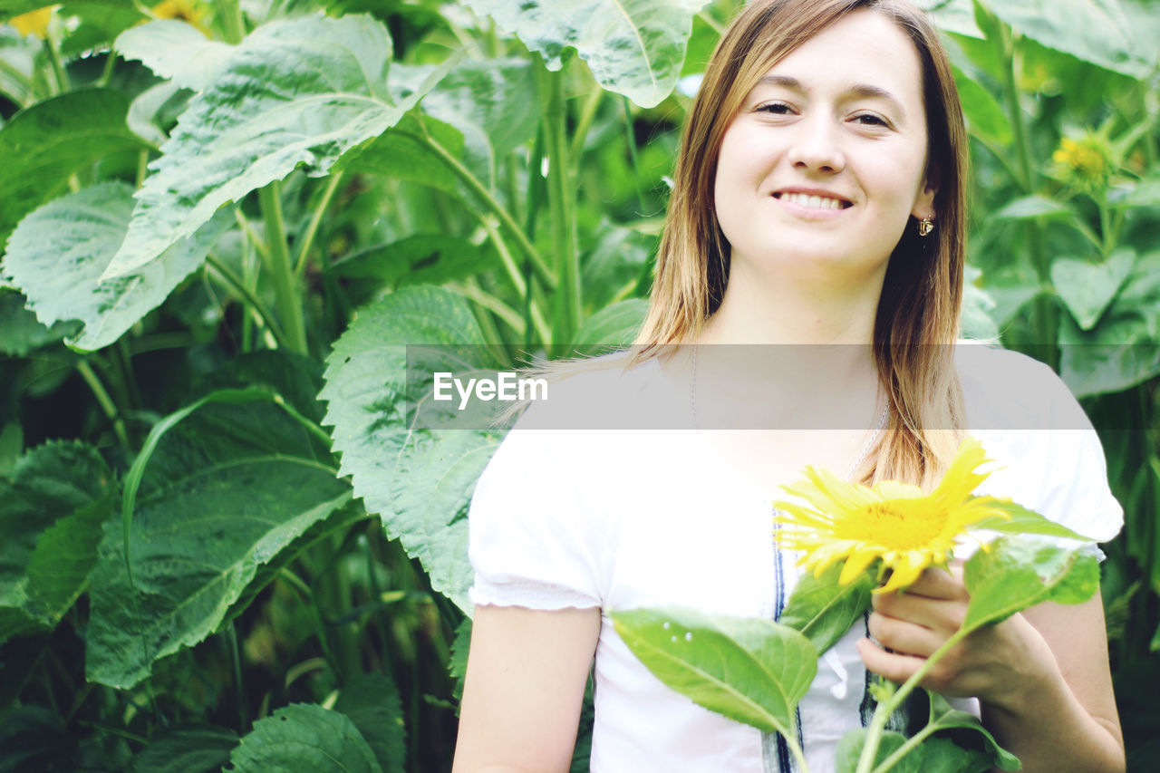
[[[913,674],[954,633],[966,590],[942,570],[927,570],[901,595],[875,597],[867,667],[894,681]],[[974,695],[998,741],[1027,773],[1123,771],[1124,746],[1111,692],[1103,605],[1041,604],[974,631],[922,681],[944,695]]]

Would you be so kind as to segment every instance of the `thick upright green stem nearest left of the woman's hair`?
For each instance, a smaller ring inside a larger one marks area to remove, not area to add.
[[[548,151],[548,204],[552,221],[552,251],[557,297],[552,303],[552,345],[557,355],[565,352],[580,326],[580,260],[575,244],[575,208],[568,182],[567,110],[564,103],[564,71],[548,73],[548,104],[544,109]]]

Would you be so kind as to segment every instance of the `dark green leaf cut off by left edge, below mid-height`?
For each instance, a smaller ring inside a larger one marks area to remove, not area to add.
[[[0,478],[0,641],[55,628],[85,590],[116,486],[95,449],[50,442]]]

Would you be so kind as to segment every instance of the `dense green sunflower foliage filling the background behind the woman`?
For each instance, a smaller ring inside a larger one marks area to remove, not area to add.
[[[404,347],[631,337],[734,5],[72,0],[0,27],[0,771],[449,767],[463,514],[500,433],[408,431]],[[1146,770],[1160,7],[926,5],[972,137],[964,327],[1059,369],[1126,511],[1103,595]]]

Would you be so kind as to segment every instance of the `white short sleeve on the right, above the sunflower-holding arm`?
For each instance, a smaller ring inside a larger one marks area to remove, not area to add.
[[[980,493],[1010,497],[1018,504],[1088,537],[1114,539],[1124,511],[1108,485],[1100,436],[1066,384],[1047,366],[1014,352],[1003,352],[999,368],[1003,386],[989,391],[998,410],[974,399],[974,413],[986,428],[972,432],[998,464]],[[1010,384],[1017,384],[1012,386]],[[964,391],[969,380],[964,378]],[[971,404],[969,400],[969,416]],[[1002,416],[1002,421],[994,417]],[[1002,426],[1007,425],[1007,426]],[[1073,541],[1060,544],[1074,546]]]

